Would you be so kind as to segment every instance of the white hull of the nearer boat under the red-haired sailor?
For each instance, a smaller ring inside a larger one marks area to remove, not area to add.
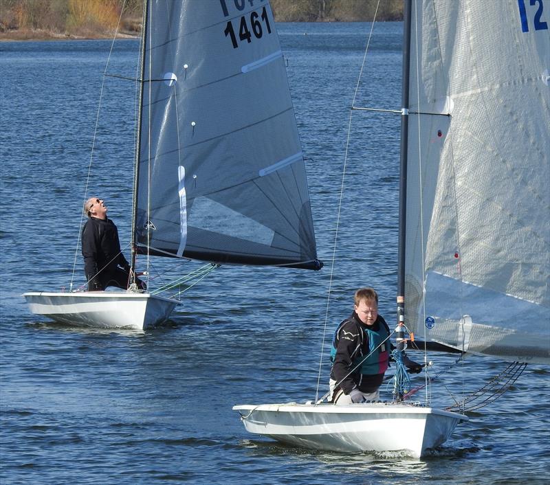
[[[238,405],[245,429],[298,447],[323,451],[402,451],[421,458],[468,418],[408,404]]]

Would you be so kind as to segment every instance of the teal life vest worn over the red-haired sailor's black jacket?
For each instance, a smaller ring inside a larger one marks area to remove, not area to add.
[[[331,363],[334,363],[334,360],[336,359],[336,338],[338,337],[338,333],[340,332],[342,326],[344,326],[344,324],[347,324],[347,322],[350,322],[350,320],[344,320],[344,322],[338,325],[338,328],[336,328],[336,332],[334,332],[330,357]],[[374,375],[384,374],[384,372],[388,370],[391,352],[391,343],[390,339],[388,339],[390,331],[383,320],[379,321],[378,327],[378,331],[375,331],[371,330],[371,328],[368,328],[365,325],[358,324],[358,330],[360,329],[360,331],[364,333],[360,334],[360,348],[362,350],[362,352],[360,353],[362,355],[355,357],[352,364],[353,368],[356,368],[358,365],[360,365],[360,367],[354,372],[357,372],[358,370],[360,374]],[[369,341],[368,352],[366,352],[363,348],[365,337]],[[384,340],[386,341],[382,343]],[[366,357],[365,359],[366,355],[369,355],[369,357]]]

